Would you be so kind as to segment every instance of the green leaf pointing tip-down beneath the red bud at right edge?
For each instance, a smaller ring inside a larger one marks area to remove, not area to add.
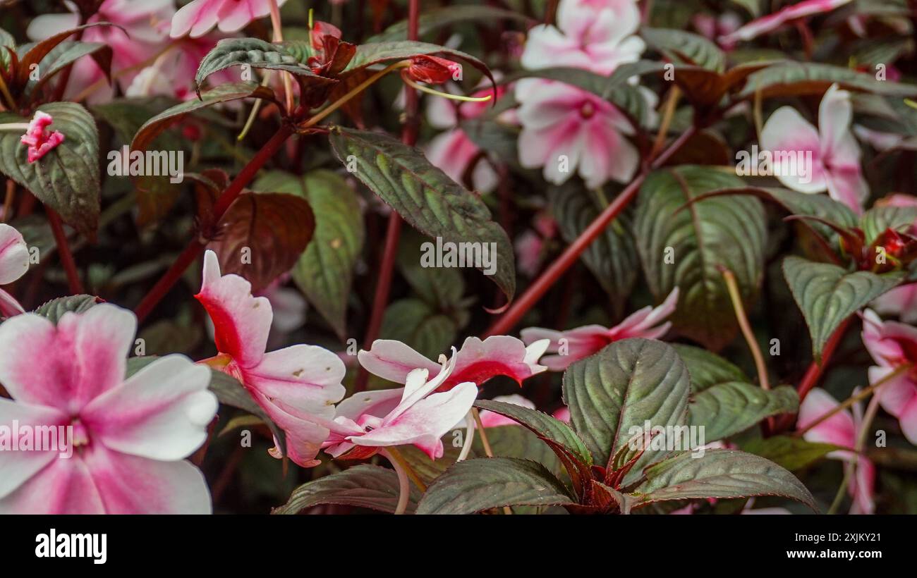
[[[821,359],[822,348],[847,317],[869,301],[900,284],[900,272],[876,275],[847,271],[829,263],[813,263],[798,256],[783,260],[783,276],[812,336],[812,354]]]

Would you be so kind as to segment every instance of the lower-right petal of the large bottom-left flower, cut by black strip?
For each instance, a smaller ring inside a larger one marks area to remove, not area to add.
[[[210,514],[213,509],[204,474],[189,462],[160,462],[102,445],[94,445],[83,459],[105,513]]]

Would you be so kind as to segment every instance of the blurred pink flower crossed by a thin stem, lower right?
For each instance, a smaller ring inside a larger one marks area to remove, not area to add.
[[[837,400],[831,395],[815,387],[809,395],[802,400],[800,406],[797,428],[803,430],[825,413],[838,406]],[[850,467],[856,463],[856,476],[851,479],[848,492],[854,499],[850,508],[851,514],[872,514],[876,510],[872,496],[875,492],[876,466],[862,455],[856,455],[852,450],[856,447],[856,436],[863,421],[863,411],[859,404],[854,405],[854,413],[843,410],[819,423],[802,436],[808,442],[833,443],[851,451],[837,451],[828,454],[828,457],[844,460]]]

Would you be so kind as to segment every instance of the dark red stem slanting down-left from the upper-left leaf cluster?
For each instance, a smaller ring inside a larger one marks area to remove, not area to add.
[[[274,136],[271,136],[271,140],[269,140],[264,147],[261,147],[258,154],[249,160],[249,164],[247,164],[238,173],[236,178],[229,183],[226,187],[226,191],[223,191],[219,198],[216,199],[213,211],[210,214],[211,223],[219,223],[223,214],[226,213],[226,210],[229,208],[229,205],[238,199],[238,195],[241,194],[245,186],[254,179],[259,169],[264,166],[269,158],[277,153],[280,147],[283,146],[283,143],[286,142],[286,139],[292,135],[293,127],[291,125],[287,125],[286,123],[281,125]],[[153,289],[149,289],[147,296],[140,301],[140,304],[134,311],[137,313],[138,321],[142,322],[147,315],[149,315],[149,312],[159,304],[160,300],[166,296],[166,293],[169,292],[172,286],[182,278],[185,269],[190,267],[197,256],[204,251],[204,246],[205,244],[201,242],[199,237],[194,237],[192,239],[191,243],[185,247],[178,259],[176,259],[172,266],[169,267],[169,270],[165,272],[165,275],[156,282]]]

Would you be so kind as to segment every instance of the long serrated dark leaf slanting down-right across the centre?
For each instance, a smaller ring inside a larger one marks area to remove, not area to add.
[[[443,243],[495,248],[490,252],[496,262],[492,280],[513,300],[513,245],[481,199],[431,165],[417,148],[391,136],[337,126],[331,146],[348,167],[354,161],[356,177],[421,233],[441,237]]]

